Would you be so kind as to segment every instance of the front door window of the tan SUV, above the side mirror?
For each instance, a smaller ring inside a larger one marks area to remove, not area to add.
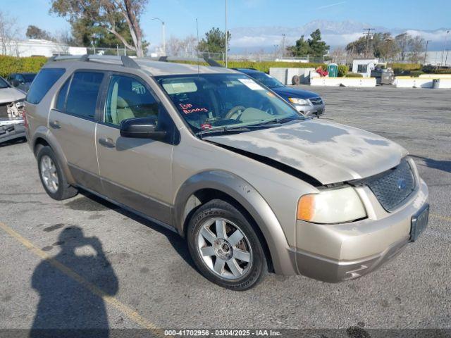
[[[106,97],[106,123],[120,125],[127,118],[156,118],[158,113],[158,102],[142,82],[127,76],[111,77]]]

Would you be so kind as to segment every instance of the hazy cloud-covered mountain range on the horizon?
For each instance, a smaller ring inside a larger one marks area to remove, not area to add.
[[[442,50],[445,44],[447,29],[416,30],[412,28],[387,28],[374,26],[369,23],[357,21],[330,21],[313,20],[298,27],[262,26],[262,27],[236,27],[230,30],[230,50],[235,53],[243,51],[273,51],[274,46],[281,46],[282,35],[285,34],[285,46],[295,44],[302,35],[307,39],[311,32],[319,28],[323,41],[330,45],[331,49],[344,47],[350,42],[364,35],[365,28],[374,28],[372,32],[390,32],[393,36],[408,32],[410,35],[419,35],[425,40],[431,40],[428,50]],[[448,36],[448,39],[451,37]],[[448,44],[451,46],[451,41]]]

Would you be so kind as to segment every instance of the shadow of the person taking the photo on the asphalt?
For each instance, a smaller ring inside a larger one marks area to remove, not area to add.
[[[52,264],[58,261],[113,296],[118,292],[118,279],[101,242],[97,237],[85,237],[80,227],[66,227],[58,237],[58,245],[61,251],[41,261],[32,275],[32,287],[40,299],[30,337],[109,337],[104,300],[59,269],[64,267]]]

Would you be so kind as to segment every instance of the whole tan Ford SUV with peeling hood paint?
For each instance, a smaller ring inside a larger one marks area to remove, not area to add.
[[[427,225],[428,188],[405,149],[305,118],[236,70],[55,60],[25,115],[47,194],[85,189],[178,232],[222,287],[249,289],[268,270],[357,278]]]

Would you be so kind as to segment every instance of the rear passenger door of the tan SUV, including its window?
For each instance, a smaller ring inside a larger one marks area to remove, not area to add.
[[[97,101],[104,73],[78,70],[63,84],[50,111],[49,129],[58,139],[76,182],[103,193],[95,143]]]

